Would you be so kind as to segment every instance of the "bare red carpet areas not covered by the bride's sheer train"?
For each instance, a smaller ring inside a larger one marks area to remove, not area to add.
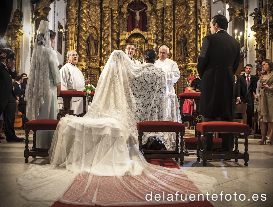
[[[163,167],[171,167],[171,168],[178,168],[176,162],[173,159],[147,159],[147,162],[153,165],[161,165]],[[182,203],[182,204],[167,204],[167,205],[150,205],[145,207],[213,207],[213,205],[205,200],[205,201],[191,201],[189,203]],[[72,205],[72,204],[65,204],[59,201],[56,201],[51,207],[87,207],[82,205]],[[127,206],[115,206],[115,207],[127,207]],[[132,207],[132,206],[130,206]],[[139,206],[138,206],[139,207]]]

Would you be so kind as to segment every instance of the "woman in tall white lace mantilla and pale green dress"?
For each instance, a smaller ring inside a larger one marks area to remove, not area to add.
[[[26,85],[26,118],[57,119],[57,95],[61,91],[61,75],[57,53],[53,50],[56,32],[49,30],[49,23],[41,21],[34,42],[31,65]],[[37,131],[37,148],[49,149],[54,131]]]

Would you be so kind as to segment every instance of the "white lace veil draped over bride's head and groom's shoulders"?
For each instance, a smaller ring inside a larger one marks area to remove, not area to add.
[[[166,99],[163,71],[152,63],[135,65],[122,50],[115,50],[101,73],[91,107],[85,116],[115,118],[137,139],[138,122],[167,121]]]

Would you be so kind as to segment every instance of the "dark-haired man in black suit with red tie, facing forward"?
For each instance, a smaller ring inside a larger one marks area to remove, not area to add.
[[[252,65],[247,64],[245,66],[245,74],[240,75],[236,82],[236,104],[239,103],[249,103],[247,106],[247,125],[249,128],[252,127],[252,117],[254,111],[254,96],[253,91],[256,91],[256,88],[253,87],[254,83],[257,83],[257,78],[251,75]]]

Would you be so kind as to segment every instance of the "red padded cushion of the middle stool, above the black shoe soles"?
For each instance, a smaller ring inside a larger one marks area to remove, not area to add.
[[[179,122],[150,121],[139,122],[136,128],[141,132],[184,132],[185,125]]]

